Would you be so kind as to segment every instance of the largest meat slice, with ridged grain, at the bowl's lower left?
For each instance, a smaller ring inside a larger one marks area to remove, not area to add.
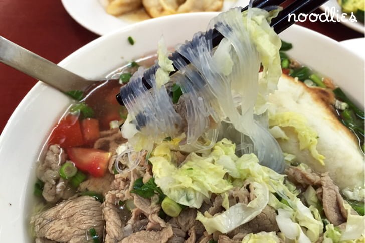
[[[63,201],[31,219],[37,238],[58,242],[84,242],[86,232],[95,228],[103,234],[104,220],[100,202],[89,196]]]

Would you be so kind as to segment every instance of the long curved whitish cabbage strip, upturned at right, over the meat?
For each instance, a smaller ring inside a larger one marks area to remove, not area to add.
[[[225,212],[213,217],[205,217],[198,211],[196,219],[204,225],[209,234],[215,231],[227,233],[249,222],[259,215],[269,202],[269,190],[266,185],[256,182],[253,182],[253,185],[256,198],[249,204],[237,203]]]

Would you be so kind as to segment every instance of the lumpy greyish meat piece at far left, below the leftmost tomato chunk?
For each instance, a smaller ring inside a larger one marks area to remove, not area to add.
[[[55,203],[74,195],[67,185],[68,182],[60,179],[59,171],[65,162],[65,151],[58,144],[53,144],[48,148],[44,160],[37,166],[37,177],[45,183],[42,196],[47,202]]]

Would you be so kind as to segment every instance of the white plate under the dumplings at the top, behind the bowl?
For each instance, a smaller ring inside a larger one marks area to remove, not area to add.
[[[225,0],[222,10],[236,6],[245,7],[248,2],[249,0]],[[66,11],[76,22],[101,36],[135,23],[107,14],[101,3],[101,0],[62,0]]]

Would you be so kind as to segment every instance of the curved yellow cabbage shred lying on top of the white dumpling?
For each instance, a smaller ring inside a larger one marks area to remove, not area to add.
[[[304,116],[295,112],[281,112],[270,115],[270,127],[293,127],[298,134],[300,149],[308,149],[311,155],[318,160],[321,165],[324,165],[325,157],[318,153],[316,145],[318,143],[318,134],[315,130],[308,126]],[[283,131],[282,131],[283,132]],[[281,135],[285,139],[287,136]]]

